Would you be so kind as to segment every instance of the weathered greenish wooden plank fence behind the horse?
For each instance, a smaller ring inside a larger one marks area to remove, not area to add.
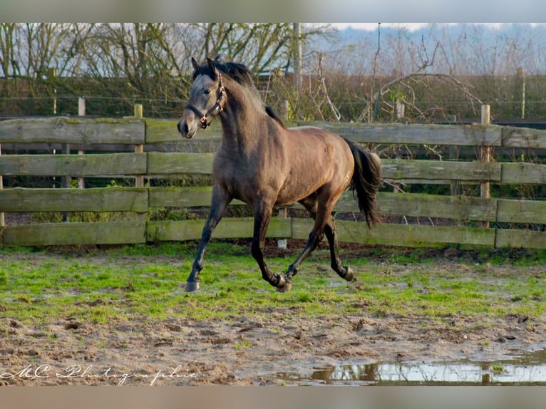
[[[527,247],[546,249],[546,200],[512,197],[470,197],[403,193],[404,184],[460,183],[464,185],[545,185],[546,165],[518,161],[495,162],[495,149],[544,150],[546,131],[495,125],[363,125],[321,123],[345,138],[379,147],[473,147],[474,160],[383,158],[383,177],[390,185],[378,195],[378,206],[388,222],[369,229],[351,221],[358,207],[350,192],[336,206],[345,214],[338,221],[343,242],[407,247]],[[0,243],[5,246],[56,244],[129,244],[200,238],[203,219],[151,220],[154,208],[207,207],[210,187],[143,187],[142,180],[183,175],[210,175],[212,152],[194,153],[191,144],[217,145],[220,130],[213,126],[193,140],[181,140],[172,120],[142,118],[51,118],[6,120],[0,123],[0,145],[69,144],[83,153],[94,145],[126,145],[130,152],[0,155],[0,175],[56,177],[126,177],[135,187],[29,188],[0,190],[0,212],[129,212],[128,221],[0,223]],[[177,143],[177,152],[158,147]],[[66,147],[66,146],[65,146]],[[145,149],[143,149],[145,147]],[[154,149],[156,147],[156,149]],[[180,152],[182,150],[182,152]],[[63,150],[70,152],[70,149]],[[138,181],[141,181],[140,183]],[[1,185],[0,185],[1,186]],[[136,187],[139,186],[139,187]],[[393,186],[393,187],[391,187]],[[479,191],[479,189],[478,189]],[[235,205],[240,205],[235,202]],[[292,207],[297,207],[293,205]],[[407,222],[413,219],[412,222]],[[312,220],[274,217],[268,236],[307,239]],[[252,218],[226,217],[213,237],[252,236]]]

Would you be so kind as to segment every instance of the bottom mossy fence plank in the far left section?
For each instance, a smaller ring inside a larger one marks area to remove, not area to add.
[[[144,243],[146,222],[45,223],[7,226],[5,246]]]

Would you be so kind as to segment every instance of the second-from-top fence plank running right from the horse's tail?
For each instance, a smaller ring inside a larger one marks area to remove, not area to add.
[[[395,180],[500,181],[500,163],[449,162],[441,160],[381,160],[383,177]]]

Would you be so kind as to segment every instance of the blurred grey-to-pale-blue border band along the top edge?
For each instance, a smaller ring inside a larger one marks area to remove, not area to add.
[[[512,21],[546,15],[544,0],[1,0],[7,21]],[[346,23],[348,24],[348,23]],[[412,23],[418,25],[418,23]],[[351,24],[352,25],[352,24]],[[361,27],[375,26],[360,23]]]

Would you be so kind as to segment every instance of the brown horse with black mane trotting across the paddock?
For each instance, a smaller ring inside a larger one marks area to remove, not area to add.
[[[192,138],[214,118],[222,124],[222,143],[213,161],[210,213],[202,229],[185,291],[200,288],[205,249],[227,205],[238,199],[252,207],[251,244],[262,278],[277,291],[292,287],[300,265],[324,238],[328,239],[331,268],[352,281],[354,271],[339,258],[338,234],[332,215],[341,194],[350,187],[359,209],[371,224],[380,221],[376,192],[381,185],[381,160],[364,147],[321,128],[287,128],[266,106],[242,63],[207,58],[194,68],[190,97],[179,122],[182,137]],[[299,202],[314,219],[299,257],[282,274],[274,274],[264,260],[264,244],[274,207]]]

